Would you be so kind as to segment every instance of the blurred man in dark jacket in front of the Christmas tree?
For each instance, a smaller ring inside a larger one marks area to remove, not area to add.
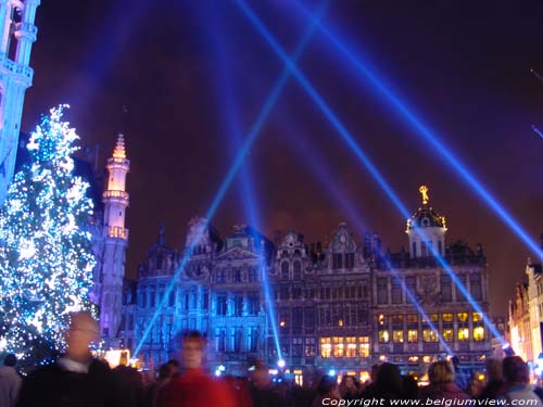
[[[66,352],[54,364],[41,367],[23,381],[17,407],[116,407],[114,378],[108,365],[89,349],[98,340],[98,323],[86,311],[72,315]]]

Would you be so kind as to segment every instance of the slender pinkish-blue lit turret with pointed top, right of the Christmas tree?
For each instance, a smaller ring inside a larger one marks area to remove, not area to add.
[[[108,160],[108,189],[103,193],[103,257],[100,275],[101,293],[100,328],[108,341],[117,336],[122,314],[123,278],[128,245],[128,229],[125,228],[125,212],[128,206],[126,175],[130,162],[126,158],[125,141],[118,135],[113,156]],[[113,345],[112,343],[110,345]]]

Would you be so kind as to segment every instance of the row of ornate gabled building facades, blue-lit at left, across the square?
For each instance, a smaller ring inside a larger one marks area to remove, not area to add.
[[[345,224],[323,247],[292,231],[272,242],[247,226],[222,239],[195,218],[185,264],[185,251],[166,244],[162,227],[136,288],[126,287],[121,335],[156,365],[176,355],[177,334],[198,329],[211,343],[210,367],[232,374],[255,359],[270,367],[282,359],[295,376],[321,369],[364,379],[375,363],[418,372],[450,353],[480,368],[492,353],[489,329],[433,254],[483,313],[485,258],[480,246],[446,244],[445,219],[424,195],[407,224],[409,252],[382,253],[376,233],[357,242]]]

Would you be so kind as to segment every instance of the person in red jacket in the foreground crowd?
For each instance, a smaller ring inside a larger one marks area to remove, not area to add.
[[[228,385],[207,374],[202,368],[206,345],[205,338],[198,331],[184,335],[181,361],[184,372],[175,374],[160,389],[157,407],[235,407]]]

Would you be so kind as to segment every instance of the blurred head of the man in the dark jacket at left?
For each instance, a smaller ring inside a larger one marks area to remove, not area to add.
[[[66,332],[66,353],[74,356],[88,354],[89,344],[99,335],[98,322],[90,313],[73,314]]]

